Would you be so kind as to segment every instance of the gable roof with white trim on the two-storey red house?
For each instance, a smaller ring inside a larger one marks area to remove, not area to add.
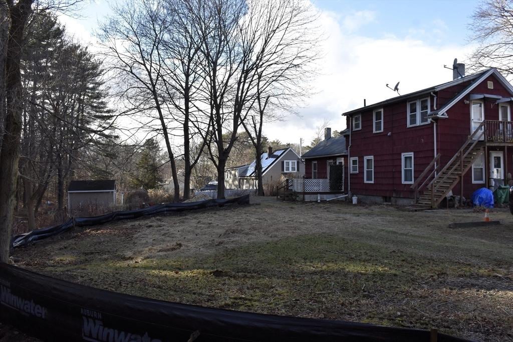
[[[446,89],[446,88],[449,88],[452,86],[456,86],[456,85],[459,85],[459,84],[462,84],[462,83],[465,83],[468,81],[473,81],[463,91],[461,91],[455,98],[453,98],[446,105],[444,105],[443,108],[440,108],[439,110],[437,110],[434,115],[438,115],[439,113],[443,114],[447,109],[449,109],[450,107],[452,107],[452,105],[454,105],[456,102],[458,102],[461,99],[461,97],[465,96],[469,91],[474,89],[478,84],[480,84],[485,78],[487,78],[491,74],[494,74],[497,77],[497,79],[499,80],[499,82],[506,89],[508,89],[511,92],[511,94],[513,94],[513,86],[511,86],[511,84],[504,78],[504,76],[502,76],[501,73],[496,68],[489,68],[489,69],[486,69],[486,70],[483,70],[480,72],[476,72],[474,74],[471,74],[471,75],[468,75],[468,76],[465,76],[462,78],[455,79],[453,81],[439,84],[438,86],[433,86],[433,87],[425,88],[425,89],[422,89],[419,91],[404,94],[401,96],[392,97],[392,98],[386,99],[384,101],[381,101],[381,102],[378,102],[378,103],[375,103],[375,104],[372,104],[369,106],[354,109],[354,110],[345,112],[342,115],[351,115],[351,114],[357,114],[357,113],[359,114],[362,111],[367,111],[372,108],[381,107],[381,106],[385,106],[388,104],[400,102],[401,100],[418,97],[421,95],[429,94],[431,92],[440,91],[440,90],[443,90],[443,89]],[[433,113],[430,113],[430,114],[433,114]]]

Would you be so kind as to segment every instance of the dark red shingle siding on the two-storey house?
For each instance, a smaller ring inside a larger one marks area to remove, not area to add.
[[[494,82],[494,89],[487,88],[487,81]],[[453,86],[437,93],[437,108],[441,108],[450,99],[465,89],[470,83]],[[511,94],[499,83],[495,76],[490,76],[473,89],[471,94],[495,94],[511,96]],[[409,100],[425,98],[426,95]],[[430,98],[430,110],[433,110],[433,96]],[[461,148],[470,135],[470,104],[465,104],[461,99],[447,112],[447,119],[439,119],[437,124],[437,150],[441,153],[442,165]],[[351,174],[350,191],[360,195],[409,197],[413,198],[413,190],[410,184],[402,184],[402,153],[413,152],[414,179],[424,171],[435,156],[433,141],[433,124],[407,127],[407,102],[403,100],[396,104],[390,104],[383,108],[384,123],[383,132],[373,133],[373,111],[362,112],[362,129],[351,132],[349,157],[358,156],[358,173]],[[485,119],[497,120],[499,118],[496,99],[486,99]],[[493,105],[492,105],[493,104]],[[513,111],[513,108],[512,108]],[[349,127],[350,117],[347,117]],[[390,135],[388,135],[390,133]],[[349,143],[348,143],[349,145]],[[374,157],[374,183],[364,183],[364,156]],[[511,164],[513,156],[507,158]],[[485,160],[488,166],[488,160]],[[346,164],[348,165],[348,164]],[[505,167],[505,172],[512,168]],[[464,177],[464,195],[470,194],[483,185],[471,184],[471,170]],[[453,189],[459,194],[459,186]]]

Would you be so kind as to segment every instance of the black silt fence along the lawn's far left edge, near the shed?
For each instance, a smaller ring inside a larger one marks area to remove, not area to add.
[[[70,218],[65,223],[60,225],[36,229],[25,234],[16,235],[11,240],[11,246],[12,248],[24,247],[33,244],[37,241],[40,241],[42,239],[48,238],[50,236],[55,236],[57,234],[67,232],[73,227],[102,225],[116,220],[132,219],[142,216],[151,216],[171,212],[198,210],[209,207],[224,206],[228,204],[249,204],[249,195],[228,199],[207,199],[202,200],[200,202],[164,203],[136,210],[115,211],[110,214],[105,214],[101,216],[74,217]]]

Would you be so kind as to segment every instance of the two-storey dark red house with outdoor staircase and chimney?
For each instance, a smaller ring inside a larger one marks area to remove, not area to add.
[[[364,202],[435,208],[508,182],[513,87],[495,68],[344,113],[348,191]]]

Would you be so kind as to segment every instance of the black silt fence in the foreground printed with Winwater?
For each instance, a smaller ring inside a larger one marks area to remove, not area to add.
[[[48,341],[463,342],[430,331],[204,308],[125,295],[0,264],[0,319]]]

